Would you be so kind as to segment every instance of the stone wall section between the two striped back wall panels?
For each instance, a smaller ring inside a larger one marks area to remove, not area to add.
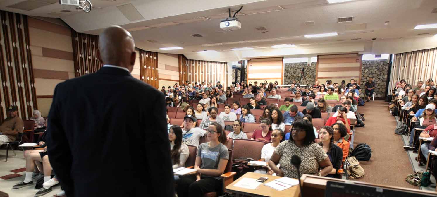
[[[299,83],[302,68],[305,68],[305,79],[302,80],[302,84],[311,85],[316,80],[316,62],[308,65],[304,63],[285,63],[284,67],[284,85],[290,85],[293,80]]]

